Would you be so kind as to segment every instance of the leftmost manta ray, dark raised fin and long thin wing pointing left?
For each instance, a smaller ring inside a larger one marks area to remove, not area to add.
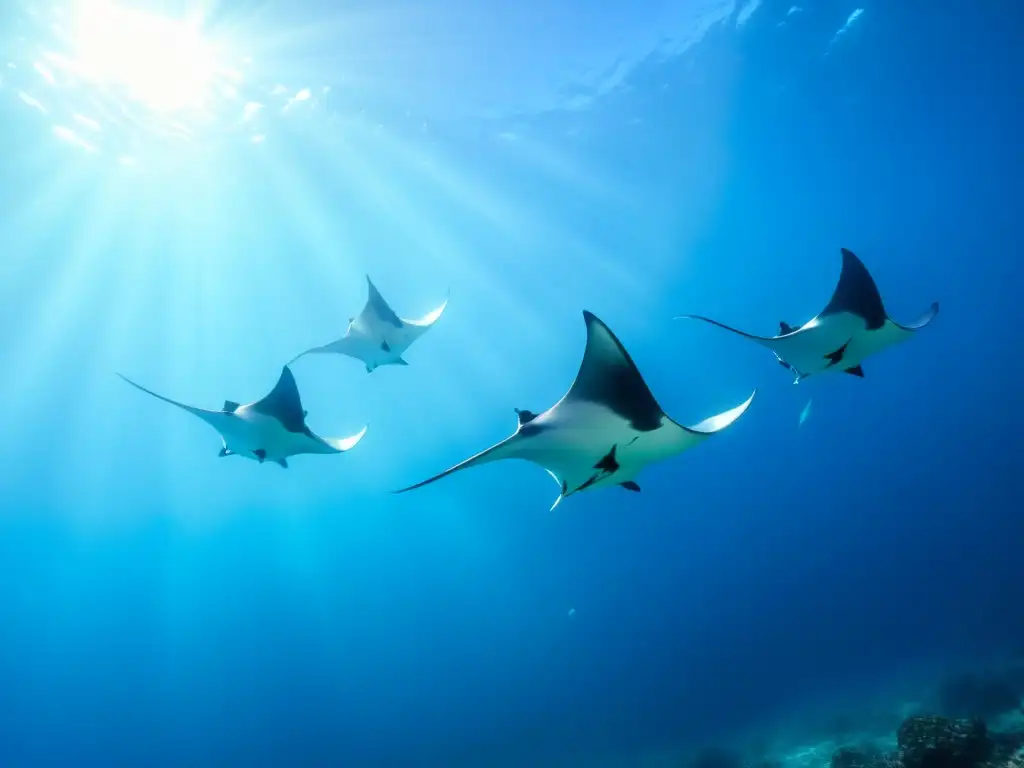
[[[121,376],[121,374],[118,374]],[[246,406],[225,400],[220,411],[193,408],[157,394],[121,376],[126,382],[146,394],[198,416],[220,432],[223,447],[220,456],[243,456],[262,464],[271,461],[288,468],[288,458],[298,454],[341,454],[355,446],[367,428],[351,437],[321,437],[306,426],[299,389],[288,366],[266,397]]]

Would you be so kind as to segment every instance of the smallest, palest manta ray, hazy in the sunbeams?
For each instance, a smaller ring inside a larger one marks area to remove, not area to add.
[[[367,275],[367,286],[370,289],[367,305],[362,307],[358,317],[349,318],[345,335],[330,344],[307,349],[296,355],[292,362],[304,354],[334,352],[362,360],[368,374],[379,366],[409,365],[402,358],[402,353],[437,322],[449,300],[445,298],[443,304],[420,319],[407,321],[395,314],[388,306],[370,280],[370,275]]]

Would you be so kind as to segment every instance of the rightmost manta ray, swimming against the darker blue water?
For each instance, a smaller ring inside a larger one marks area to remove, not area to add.
[[[801,328],[780,323],[778,336],[767,337],[755,336],[698,314],[684,314],[677,319],[711,323],[768,347],[779,364],[795,375],[795,384],[808,376],[834,371],[863,378],[860,364],[865,358],[909,339],[935,318],[939,303],[934,302],[928,311],[907,326],[896,323],[886,313],[879,289],[863,262],[846,248],[842,252],[843,269],[831,300]]]

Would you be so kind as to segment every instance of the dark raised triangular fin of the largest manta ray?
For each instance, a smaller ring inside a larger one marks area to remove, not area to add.
[[[651,394],[623,343],[592,312],[584,310],[587,349],[566,399],[604,406],[638,432],[652,432],[665,422],[665,412]]]

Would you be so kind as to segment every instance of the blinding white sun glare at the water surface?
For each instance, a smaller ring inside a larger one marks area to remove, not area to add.
[[[80,74],[154,111],[202,110],[214,95],[220,72],[198,20],[83,0],[69,33]]]

